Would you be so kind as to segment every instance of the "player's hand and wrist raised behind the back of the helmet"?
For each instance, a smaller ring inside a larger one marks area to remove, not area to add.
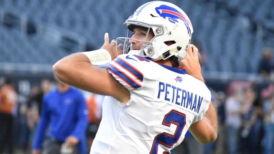
[[[178,62],[180,67],[186,68],[187,74],[204,82],[198,58],[198,49],[196,48],[196,46],[190,44],[187,50],[186,58]]]

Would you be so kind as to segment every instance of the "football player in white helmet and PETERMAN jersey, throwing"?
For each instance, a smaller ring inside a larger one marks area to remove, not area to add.
[[[214,141],[216,113],[197,48],[190,45],[193,28],[186,13],[172,3],[148,2],[124,26],[128,37],[117,38],[124,45],[109,43],[106,33],[101,49],[53,66],[63,82],[114,98],[104,101],[109,103],[103,104],[90,153],[170,153],[188,129],[202,143]],[[124,54],[116,58],[114,51]],[[172,67],[174,60],[186,69]],[[109,61],[107,69],[96,67]]]

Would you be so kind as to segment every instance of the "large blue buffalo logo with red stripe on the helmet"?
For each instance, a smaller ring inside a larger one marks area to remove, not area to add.
[[[171,23],[178,23],[178,19],[182,20],[188,29],[188,34],[191,34],[189,25],[192,26],[192,24],[182,13],[180,13],[180,11],[168,5],[161,5],[156,7],[155,10],[160,15],[160,17],[168,19],[168,21]]]

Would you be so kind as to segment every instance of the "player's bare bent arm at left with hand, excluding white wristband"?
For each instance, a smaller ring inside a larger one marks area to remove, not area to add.
[[[108,42],[105,34],[105,43],[100,50],[114,46]],[[114,49],[114,48],[113,48]],[[91,60],[82,53],[74,53],[59,60],[53,65],[53,71],[59,80],[77,88],[101,95],[113,96],[122,103],[128,102],[130,92],[108,73],[106,69],[91,64]]]

